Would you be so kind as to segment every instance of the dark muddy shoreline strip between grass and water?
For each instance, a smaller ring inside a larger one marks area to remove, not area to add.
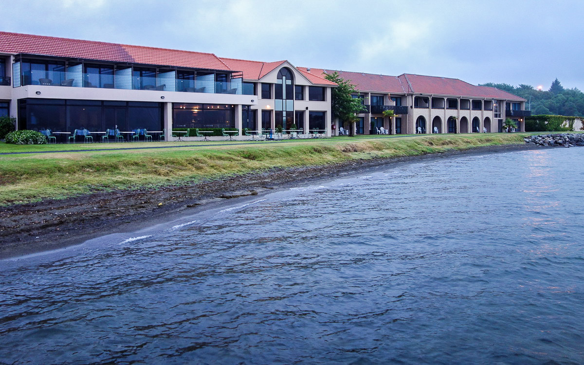
[[[408,157],[276,168],[192,186],[118,190],[6,206],[0,208],[0,259],[67,248],[107,234],[134,232],[210,208],[235,204],[252,196],[299,184],[332,180],[374,168],[387,169],[430,159],[537,148],[533,144],[490,145]]]

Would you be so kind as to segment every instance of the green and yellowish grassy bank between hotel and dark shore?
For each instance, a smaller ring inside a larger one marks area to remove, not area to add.
[[[185,144],[180,148],[159,150],[3,155],[0,157],[0,204],[58,199],[113,189],[193,183],[201,179],[217,179],[274,167],[325,165],[351,159],[391,158],[485,145],[518,144],[523,143],[523,135],[340,137],[286,143],[209,144],[203,147]],[[25,147],[28,150],[35,148]],[[2,152],[14,151],[13,148],[0,145]],[[42,148],[41,151],[64,150],[62,145]]]

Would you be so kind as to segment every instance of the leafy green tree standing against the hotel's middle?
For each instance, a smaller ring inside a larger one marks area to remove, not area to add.
[[[340,77],[338,72],[326,74],[325,78],[338,85],[336,88],[332,88],[331,92],[332,113],[341,121],[341,123],[349,123],[349,133],[352,136],[355,129],[354,124],[359,120],[357,114],[361,113],[363,110],[361,99],[353,98],[352,96],[358,91],[348,80]]]

